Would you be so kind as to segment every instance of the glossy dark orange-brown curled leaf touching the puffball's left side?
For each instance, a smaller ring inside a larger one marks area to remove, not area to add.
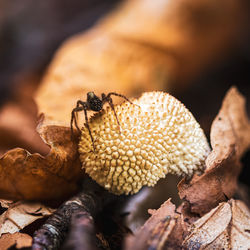
[[[38,127],[51,147],[48,155],[30,154],[22,148],[6,152],[0,158],[0,197],[11,200],[62,200],[78,190],[83,177],[77,141],[70,129],[61,126]]]

